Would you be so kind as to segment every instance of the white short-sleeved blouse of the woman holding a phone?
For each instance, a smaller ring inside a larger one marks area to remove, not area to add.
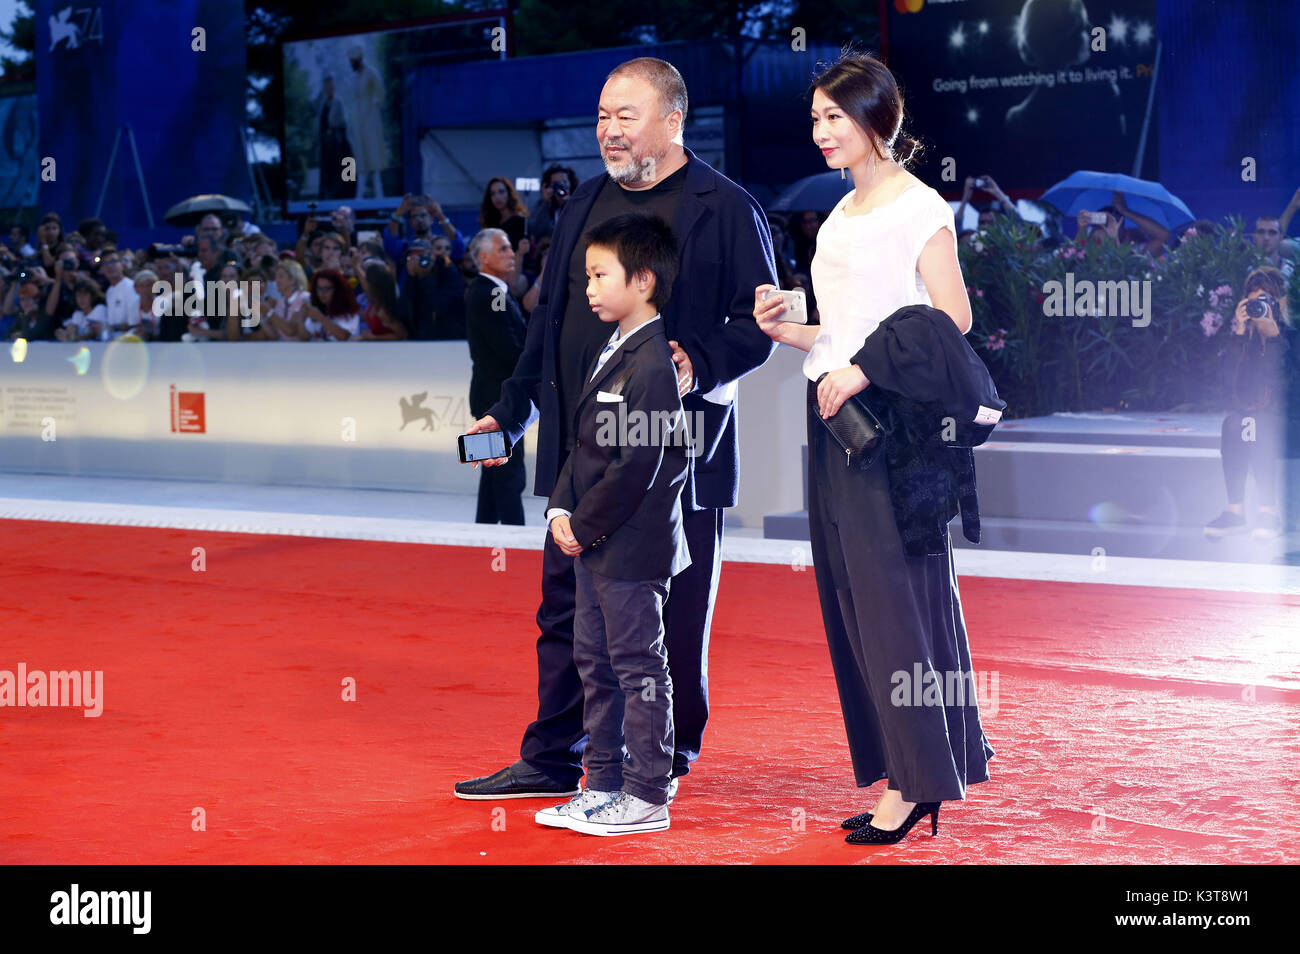
[[[812,256],[812,290],[822,320],[803,374],[848,368],[867,335],[909,304],[932,304],[916,260],[940,229],[953,233],[953,209],[930,186],[909,186],[888,205],[846,216],[845,195],[822,224]]]

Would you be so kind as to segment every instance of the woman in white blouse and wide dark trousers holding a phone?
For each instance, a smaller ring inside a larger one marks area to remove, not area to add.
[[[822,620],[857,782],[889,780],[871,812],[844,827],[850,844],[889,844],[927,815],[937,832],[940,803],[988,779],[993,749],[974,693],[961,691],[974,686],[974,673],[952,545],[942,555],[907,555],[885,455],[866,471],[849,469],[818,415],[835,415],[870,385],[850,359],[894,311],[931,304],[963,334],[971,311],[952,209],[904,168],[916,143],[900,136],[902,97],[888,68],[842,57],[812,84],[811,118],[827,165],[849,169],[857,186],[816,237],[822,324],[780,321],[780,299],[762,300],[770,285],[755,289],[754,317],[776,342],[809,352],[809,524]],[[923,685],[913,688],[918,673]],[[932,691],[936,680],[942,698]],[[928,704],[914,704],[922,698]]]

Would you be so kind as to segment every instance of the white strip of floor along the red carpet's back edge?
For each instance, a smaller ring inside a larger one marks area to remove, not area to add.
[[[471,522],[469,494],[0,473],[0,541],[10,554],[22,541],[5,520],[540,550],[545,500],[526,496],[524,508],[526,526],[486,526]],[[805,541],[759,534],[728,529],[723,559],[812,572]],[[1300,594],[1297,567],[985,548],[954,548],[953,559],[962,576]]]

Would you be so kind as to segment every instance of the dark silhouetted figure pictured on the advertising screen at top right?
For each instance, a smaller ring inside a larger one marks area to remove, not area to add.
[[[1128,133],[1114,78],[1089,70],[1086,82],[1058,79],[1057,70],[1079,69],[1089,61],[1091,40],[1092,22],[1083,0],[1024,0],[1015,19],[1017,52],[1044,83],[1006,110],[1006,130],[1026,142],[1069,139],[1074,169],[1113,164],[1115,139]]]

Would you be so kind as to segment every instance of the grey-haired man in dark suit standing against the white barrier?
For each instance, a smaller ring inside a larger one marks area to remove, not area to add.
[[[469,242],[468,253],[478,274],[465,289],[465,337],[469,342],[469,413],[476,419],[500,398],[500,386],[515,370],[524,351],[528,322],[510,294],[506,277],[515,265],[510,237],[500,229],[484,229]],[[478,477],[476,524],[524,525],[523,437],[515,442],[502,467],[485,467]]]

